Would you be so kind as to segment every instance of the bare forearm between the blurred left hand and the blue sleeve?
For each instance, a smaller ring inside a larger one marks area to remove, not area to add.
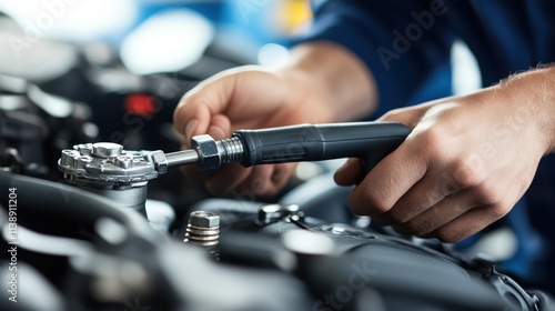
[[[363,118],[377,103],[372,73],[355,54],[339,44],[301,44],[293,49],[291,61],[278,73],[322,94],[334,121]]]

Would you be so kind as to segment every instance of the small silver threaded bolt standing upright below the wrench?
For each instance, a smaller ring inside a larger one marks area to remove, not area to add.
[[[189,217],[184,242],[213,247],[220,238],[220,215],[214,212],[194,211]]]

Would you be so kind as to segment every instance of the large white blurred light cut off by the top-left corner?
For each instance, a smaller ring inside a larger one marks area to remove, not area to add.
[[[137,19],[137,0],[0,0],[32,38],[99,39],[128,29]]]

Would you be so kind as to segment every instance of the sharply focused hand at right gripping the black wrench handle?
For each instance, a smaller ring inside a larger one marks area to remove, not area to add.
[[[381,120],[414,130],[355,188],[353,210],[401,233],[445,242],[505,215],[529,187],[539,159],[553,150],[554,114],[546,108],[553,94],[539,92],[551,92],[542,87],[551,79],[538,74],[385,114]],[[361,163],[352,159],[335,180],[353,184],[360,174]]]

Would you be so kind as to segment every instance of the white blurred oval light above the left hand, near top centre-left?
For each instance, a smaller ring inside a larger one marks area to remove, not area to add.
[[[122,42],[120,57],[132,72],[174,72],[195,63],[214,36],[213,26],[191,10],[159,13]]]

